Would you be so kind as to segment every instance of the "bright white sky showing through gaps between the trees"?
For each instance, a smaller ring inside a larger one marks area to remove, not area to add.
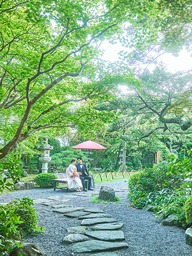
[[[109,61],[118,60],[118,52],[123,49],[120,43],[112,45],[108,41],[102,42],[101,48],[105,51],[102,59]],[[186,50],[182,50],[178,57],[174,57],[170,53],[165,53],[159,57],[159,61],[160,58],[167,65],[167,70],[170,72],[174,73],[176,71],[186,71],[192,69],[192,57],[190,57],[190,53]],[[151,67],[153,66],[151,65]],[[148,67],[148,69],[150,69],[150,67]]]

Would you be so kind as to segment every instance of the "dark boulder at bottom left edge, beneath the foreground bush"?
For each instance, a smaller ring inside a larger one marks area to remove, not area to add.
[[[17,256],[17,255],[27,255],[27,256],[39,256],[45,255],[45,252],[42,251],[36,244],[32,243],[21,243],[23,248],[14,247],[14,251],[10,253],[10,256]],[[23,254],[22,254],[23,253]]]

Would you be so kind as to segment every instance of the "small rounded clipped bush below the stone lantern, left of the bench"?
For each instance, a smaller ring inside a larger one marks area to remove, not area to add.
[[[34,178],[34,182],[42,188],[47,188],[47,187],[53,187],[53,179],[57,179],[57,176],[55,174],[38,174]]]

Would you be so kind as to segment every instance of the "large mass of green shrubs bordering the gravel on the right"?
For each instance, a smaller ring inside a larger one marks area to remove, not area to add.
[[[187,227],[186,200],[191,190],[182,188],[181,174],[167,174],[167,168],[148,168],[131,176],[128,198],[131,205],[143,208],[152,205],[157,218],[167,218],[175,214],[175,225]],[[190,204],[188,203],[188,208]]]

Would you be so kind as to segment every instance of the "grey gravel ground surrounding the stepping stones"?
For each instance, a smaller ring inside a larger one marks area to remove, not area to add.
[[[96,184],[94,191],[81,193],[66,193],[57,189],[31,189],[15,191],[0,196],[0,203],[9,202],[16,198],[54,198],[66,200],[73,206],[97,207],[113,215],[118,222],[124,223],[125,242],[129,248],[115,251],[119,255],[127,256],[188,256],[192,255],[192,247],[185,244],[185,230],[178,227],[163,226],[154,220],[153,212],[134,209],[127,201],[127,183],[125,180]],[[91,195],[99,193],[101,185],[109,185],[116,191],[122,204],[90,203]],[[28,236],[24,240],[37,244],[45,251],[46,256],[91,256],[91,253],[77,253],[72,251],[71,245],[63,245],[62,238],[67,236],[67,228],[80,225],[80,220],[63,217],[53,212],[50,206],[34,205],[38,218],[38,225],[46,228],[37,237]]]

